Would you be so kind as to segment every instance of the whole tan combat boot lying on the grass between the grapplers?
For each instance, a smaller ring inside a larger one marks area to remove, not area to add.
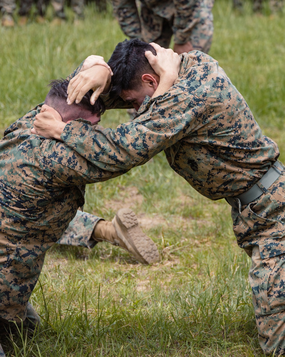
[[[121,208],[112,222],[99,221],[92,238],[97,242],[107,241],[130,252],[144,264],[160,261],[154,242],[139,227],[138,219],[130,208]]]

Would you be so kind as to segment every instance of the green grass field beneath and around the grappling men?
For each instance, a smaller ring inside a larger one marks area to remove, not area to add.
[[[214,6],[210,51],[243,94],[285,162],[284,14],[242,14]],[[109,59],[124,40],[109,11],[86,19],[0,28],[0,129],[44,100],[49,80],[90,54]],[[128,121],[109,111],[101,124]],[[199,195],[164,154],[124,176],[87,188],[85,210],[112,219],[131,207],[161,262],[143,266],[120,248],[53,246],[31,297],[42,316],[37,336],[1,340],[6,356],[263,356],[257,341],[250,259],[235,242],[230,207]]]

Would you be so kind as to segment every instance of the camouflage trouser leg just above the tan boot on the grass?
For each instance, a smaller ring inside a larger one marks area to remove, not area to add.
[[[94,247],[98,242],[94,241],[91,235],[98,221],[102,219],[87,212],[77,211],[76,216],[57,243],[86,248]]]

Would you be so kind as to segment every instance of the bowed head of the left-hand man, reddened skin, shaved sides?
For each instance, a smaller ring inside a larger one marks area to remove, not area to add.
[[[66,102],[68,84],[69,81],[65,79],[51,81],[49,84],[51,89],[46,96],[45,104],[59,112],[64,122],[82,118],[91,121],[92,124],[97,124],[100,115],[105,112],[102,99],[99,98],[94,105],[90,104],[90,97],[93,93],[91,90],[84,95],[78,104],[68,105]]]

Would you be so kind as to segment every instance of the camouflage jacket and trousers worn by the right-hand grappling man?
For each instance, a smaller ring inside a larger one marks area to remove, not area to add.
[[[114,78],[112,57],[108,64]],[[101,98],[108,109],[131,107],[110,93]],[[232,202],[238,245],[252,256],[249,280],[260,346],[267,354],[285,353],[285,170],[277,144],[262,135],[216,60],[199,51],[182,54],[174,85],[165,95],[146,96],[133,121],[115,130],[70,122],[61,139],[102,172],[123,173],[164,150],[172,169],[195,190]],[[269,170],[278,178],[266,188],[262,178]],[[242,205],[237,197],[255,184],[260,196]]]

